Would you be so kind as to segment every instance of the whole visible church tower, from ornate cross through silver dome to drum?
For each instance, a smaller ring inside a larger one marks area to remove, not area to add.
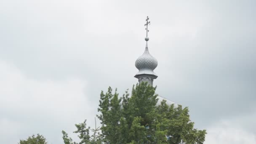
[[[148,24],[150,25],[149,17],[146,19],[146,31],[148,30]],[[155,59],[149,53],[149,48],[147,46],[147,42],[149,41],[149,37],[145,37],[146,40],[146,48],[144,53],[136,60],[135,67],[139,69],[139,72],[134,76],[138,78],[139,83],[147,82],[149,85],[153,86],[153,80],[157,78],[157,75],[154,72],[154,69],[157,67],[157,59]]]

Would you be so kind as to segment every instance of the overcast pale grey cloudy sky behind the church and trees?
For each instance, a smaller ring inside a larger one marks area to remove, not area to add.
[[[157,93],[205,144],[256,144],[255,0],[1,0],[0,143],[94,126],[100,91],[137,83],[146,16]]]

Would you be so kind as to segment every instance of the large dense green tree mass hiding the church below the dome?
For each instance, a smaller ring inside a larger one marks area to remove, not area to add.
[[[137,84],[123,97],[117,89],[101,91],[97,115],[105,143],[110,144],[203,144],[206,131],[194,128],[188,107],[157,104],[156,87]]]

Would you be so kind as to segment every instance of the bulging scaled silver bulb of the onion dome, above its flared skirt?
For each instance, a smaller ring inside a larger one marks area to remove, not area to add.
[[[147,45],[144,53],[136,60],[135,67],[139,70],[141,69],[154,70],[157,67],[157,59],[151,56]]]

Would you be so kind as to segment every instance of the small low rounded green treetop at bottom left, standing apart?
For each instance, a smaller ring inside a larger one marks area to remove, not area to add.
[[[20,140],[18,144],[48,144],[48,142],[43,135],[37,134],[37,136],[29,136],[27,140]]]

